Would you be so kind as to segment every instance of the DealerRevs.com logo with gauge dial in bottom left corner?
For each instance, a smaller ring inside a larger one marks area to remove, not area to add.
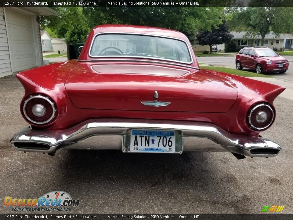
[[[78,207],[80,200],[73,200],[63,191],[52,191],[44,196],[33,199],[18,199],[6,196],[4,205],[12,206],[12,211],[72,211]]]

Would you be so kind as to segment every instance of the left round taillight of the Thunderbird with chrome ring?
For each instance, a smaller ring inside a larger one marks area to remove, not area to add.
[[[23,112],[31,123],[46,124],[55,117],[56,108],[48,97],[39,94],[30,96],[24,101]]]

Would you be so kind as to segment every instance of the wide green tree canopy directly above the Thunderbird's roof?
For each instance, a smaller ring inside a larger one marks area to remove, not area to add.
[[[222,23],[224,7],[83,7],[90,28],[100,24],[131,24],[170,28],[191,42],[197,30]]]

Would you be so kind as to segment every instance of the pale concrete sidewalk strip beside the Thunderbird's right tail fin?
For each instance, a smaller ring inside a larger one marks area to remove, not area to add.
[[[279,96],[293,100],[293,83],[290,81],[277,79],[277,78],[267,78],[267,77],[247,77],[247,78],[259,80],[262,82],[276,84],[278,86],[285,86],[286,90],[284,92],[282,92]]]

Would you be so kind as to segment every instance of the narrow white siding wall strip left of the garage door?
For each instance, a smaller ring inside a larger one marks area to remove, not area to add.
[[[3,7],[0,7],[0,78],[7,75],[12,75],[7,31],[3,15]]]

